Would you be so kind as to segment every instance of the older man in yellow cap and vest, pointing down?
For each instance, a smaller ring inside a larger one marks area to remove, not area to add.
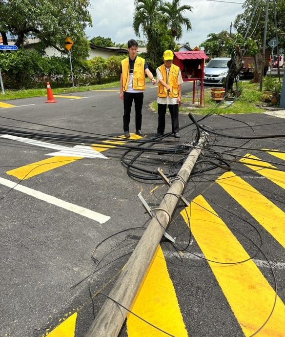
[[[158,128],[156,137],[162,136],[165,129],[166,105],[171,115],[172,132],[179,138],[179,104],[181,103],[181,84],[183,83],[180,68],[172,64],[174,55],[171,50],[163,53],[163,64],[156,69],[158,91]]]

